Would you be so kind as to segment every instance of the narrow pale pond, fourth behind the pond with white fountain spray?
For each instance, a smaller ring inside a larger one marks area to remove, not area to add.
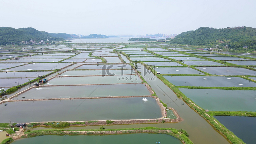
[[[132,69],[130,64],[85,64],[78,69]]]

